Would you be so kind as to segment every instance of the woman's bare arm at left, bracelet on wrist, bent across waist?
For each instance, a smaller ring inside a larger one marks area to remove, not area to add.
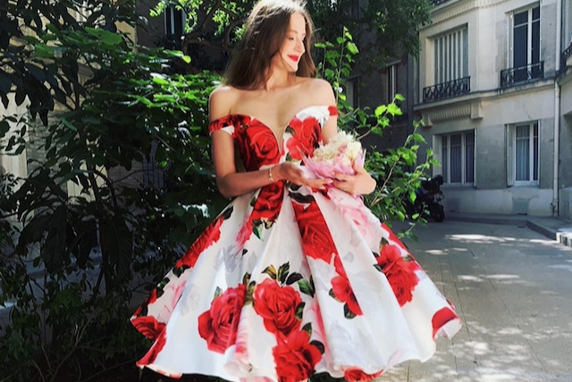
[[[229,115],[235,99],[237,95],[231,88],[214,89],[209,98],[210,120]],[[282,180],[314,189],[323,189],[325,184],[331,183],[326,179],[308,179],[299,166],[291,163],[281,163],[263,170],[239,172],[235,164],[235,148],[231,135],[219,130],[211,133],[211,139],[216,185],[225,198],[232,198]]]

